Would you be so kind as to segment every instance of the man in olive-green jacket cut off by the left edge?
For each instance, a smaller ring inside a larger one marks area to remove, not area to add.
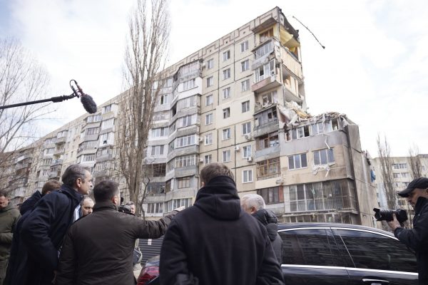
[[[4,283],[12,238],[20,217],[18,209],[9,204],[6,191],[0,190],[0,285]]]

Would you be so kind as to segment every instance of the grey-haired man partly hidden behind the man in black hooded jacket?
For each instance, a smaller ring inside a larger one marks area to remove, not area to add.
[[[278,234],[278,219],[271,210],[265,209],[263,197],[257,194],[245,195],[241,198],[241,206],[266,227],[278,263],[282,264],[282,239]]]

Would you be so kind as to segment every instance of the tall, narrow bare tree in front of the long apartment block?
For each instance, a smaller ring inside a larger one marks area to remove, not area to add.
[[[126,92],[119,106],[118,155],[120,173],[125,178],[130,198],[139,215],[151,170],[146,155],[153,110],[163,84],[169,38],[166,0],[150,4],[138,0],[129,21],[129,38],[125,54]],[[144,212],[143,212],[144,217]]]

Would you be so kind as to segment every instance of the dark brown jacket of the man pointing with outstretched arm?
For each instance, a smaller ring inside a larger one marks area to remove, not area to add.
[[[57,285],[133,285],[133,248],[136,239],[157,239],[177,212],[144,221],[118,212],[111,202],[96,203],[93,213],[78,219],[61,249]]]

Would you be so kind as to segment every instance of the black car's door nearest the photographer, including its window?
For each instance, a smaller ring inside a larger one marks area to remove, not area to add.
[[[416,257],[388,234],[365,229],[332,229],[346,264],[350,284],[417,284]]]

